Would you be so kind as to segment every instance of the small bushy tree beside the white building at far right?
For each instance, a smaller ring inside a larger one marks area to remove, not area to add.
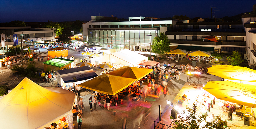
[[[232,51],[232,56],[227,56],[227,61],[230,65],[240,66],[245,60],[242,59],[242,55],[238,51]]]

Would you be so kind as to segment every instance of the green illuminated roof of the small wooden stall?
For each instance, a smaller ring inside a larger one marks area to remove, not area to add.
[[[73,60],[63,59],[63,58],[55,58],[55,59],[51,59],[49,61],[45,61],[44,64],[61,68],[61,67],[68,65],[69,63],[72,63],[72,62],[73,62]]]

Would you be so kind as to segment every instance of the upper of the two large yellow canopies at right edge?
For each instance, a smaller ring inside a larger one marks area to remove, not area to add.
[[[246,67],[232,65],[213,65],[211,68],[208,68],[207,73],[230,80],[256,82],[256,70]]]

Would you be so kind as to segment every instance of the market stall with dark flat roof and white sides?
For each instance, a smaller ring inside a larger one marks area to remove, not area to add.
[[[103,72],[103,68],[101,68],[101,72]],[[69,68],[64,70],[57,70],[57,83],[60,86],[72,86],[73,82],[75,84],[80,84],[85,82],[88,79],[94,78],[101,74],[101,72],[96,72],[93,68],[88,66],[82,66],[77,68]]]

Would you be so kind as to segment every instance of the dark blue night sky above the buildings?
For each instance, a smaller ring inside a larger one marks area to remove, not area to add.
[[[91,16],[108,16],[117,18],[128,17],[173,17],[186,15],[190,18],[210,18],[210,6],[216,7],[214,15],[217,18],[250,12],[255,0],[252,1],[68,1],[68,0],[29,0],[29,1],[0,1],[0,22],[20,20],[25,22],[43,21],[75,21],[91,20]]]

